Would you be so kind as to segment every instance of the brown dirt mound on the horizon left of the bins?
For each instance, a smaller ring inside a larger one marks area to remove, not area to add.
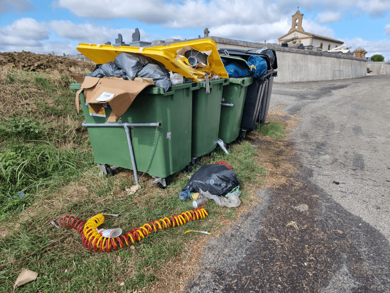
[[[95,63],[82,62],[61,57],[57,55],[36,54],[31,52],[6,52],[0,53],[0,65],[15,65],[15,67],[27,70],[53,70],[57,69],[60,72],[68,72],[69,67],[80,67],[92,72],[95,68]]]

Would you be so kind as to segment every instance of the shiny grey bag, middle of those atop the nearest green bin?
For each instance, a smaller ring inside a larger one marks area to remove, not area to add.
[[[151,62],[144,56],[123,52],[115,57],[114,63],[118,69],[126,71],[127,76],[132,80],[143,67]]]

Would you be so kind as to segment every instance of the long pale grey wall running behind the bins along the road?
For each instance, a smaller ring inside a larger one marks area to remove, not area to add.
[[[213,40],[217,44],[218,49],[235,48],[249,50],[263,47],[274,49],[278,63],[278,77],[273,80],[275,83],[349,79],[366,76],[367,74],[367,60],[365,58],[355,58],[352,55],[337,55],[328,52],[286,48],[278,44],[245,42],[218,37],[208,37],[207,39]],[[165,42],[159,45],[166,46],[172,43]]]

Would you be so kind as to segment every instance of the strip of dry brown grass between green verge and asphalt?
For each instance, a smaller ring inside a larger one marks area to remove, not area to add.
[[[276,106],[269,112],[267,116],[268,121],[275,121],[282,123],[288,131],[292,131],[293,127],[297,126],[295,120],[301,118],[288,115],[281,111],[282,105]],[[294,121],[286,121],[283,118],[275,117],[289,117]],[[257,149],[256,162],[267,169],[264,184],[254,184],[248,190],[248,200],[246,205],[240,205],[235,208],[237,219],[252,210],[252,208],[260,201],[256,196],[259,188],[279,188],[291,182],[291,174],[296,171],[296,168],[289,163],[289,159],[294,154],[292,145],[287,140],[275,139],[272,137],[264,137],[259,135],[257,131],[252,131],[246,136]],[[224,208],[228,210],[228,208]],[[156,276],[161,280],[156,282],[156,287],[152,288],[152,292],[156,293],[179,293],[183,292],[185,284],[188,280],[194,277],[194,273],[198,272],[199,261],[202,257],[202,251],[207,246],[208,242],[224,231],[229,229],[232,225],[233,219],[221,214],[219,229],[213,230],[213,235],[200,235],[197,239],[192,240],[187,244],[186,250],[175,259],[171,259],[168,265],[160,271],[155,272]],[[295,227],[294,227],[295,228]],[[203,237],[202,237],[203,236]],[[182,265],[186,259],[186,264]],[[169,281],[168,281],[169,280]],[[182,283],[180,283],[182,282]]]

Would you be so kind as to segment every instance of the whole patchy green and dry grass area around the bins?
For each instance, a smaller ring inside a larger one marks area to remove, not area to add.
[[[87,134],[79,127],[82,114],[74,113],[74,92],[68,88],[68,78],[6,70],[7,74],[1,75],[7,82],[3,92],[13,93],[21,102],[15,103],[9,95],[0,97],[4,101],[0,111],[11,113],[3,115],[0,122],[4,162],[0,180],[7,188],[4,192],[8,192],[2,203],[7,205],[8,214],[3,213],[6,221],[1,223],[6,232],[0,238],[0,291],[12,291],[22,268],[38,272],[39,279],[16,292],[150,292],[156,288],[164,291],[174,279],[180,280],[181,286],[189,277],[181,264],[196,266],[196,258],[188,258],[190,251],[199,255],[210,237],[184,231],[208,230],[217,234],[251,207],[257,200],[256,190],[265,184],[268,170],[259,165],[261,146],[244,141],[232,145],[229,155],[217,149],[204,156],[201,163],[223,160],[234,167],[242,184],[240,207],[220,208],[211,202],[206,207],[206,219],[157,231],[132,248],[111,253],[88,251],[76,231],[56,229],[50,225],[51,220],[65,215],[87,220],[100,212],[113,212],[121,216],[106,217],[102,228],[121,227],[128,231],[193,209],[190,201],[183,203],[177,198],[191,174],[173,175],[173,184],[165,190],[151,184],[151,177],[146,175],[140,178],[137,193],[128,195],[125,188],[134,185],[131,171],[121,169],[114,177],[102,178],[92,167]],[[259,139],[260,134],[254,131],[252,136]],[[14,198],[20,190],[34,192],[27,192],[25,199]],[[17,214],[9,217],[12,213]],[[68,233],[69,237],[58,241]],[[37,252],[30,255],[34,251]]]

